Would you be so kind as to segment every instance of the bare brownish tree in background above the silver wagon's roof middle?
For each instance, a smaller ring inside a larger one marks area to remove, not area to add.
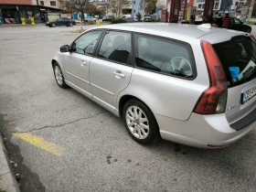
[[[127,8],[131,4],[132,2],[129,0],[108,0],[108,6],[116,17],[121,16],[123,8]]]

